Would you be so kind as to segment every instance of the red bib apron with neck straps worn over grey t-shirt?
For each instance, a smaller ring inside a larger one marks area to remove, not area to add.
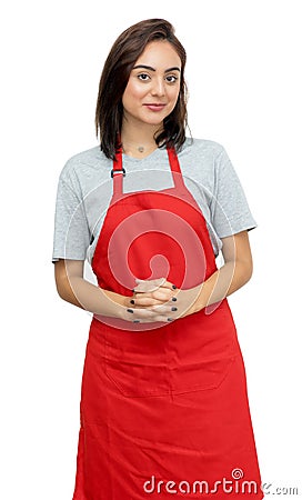
[[[133,193],[123,193],[117,154],[113,197],[92,261],[103,289],[130,297],[135,278],[162,277],[189,289],[217,270],[205,220],[174,150],[168,154],[174,187]],[[164,324],[94,317],[73,500],[260,499],[260,484],[226,299]]]

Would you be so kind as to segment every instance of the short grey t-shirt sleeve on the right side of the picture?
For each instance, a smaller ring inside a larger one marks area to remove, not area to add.
[[[256,227],[239,177],[224,150],[215,159],[214,191],[211,219],[219,238]]]

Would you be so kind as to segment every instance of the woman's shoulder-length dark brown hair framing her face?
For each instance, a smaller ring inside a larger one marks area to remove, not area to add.
[[[155,137],[160,147],[181,148],[185,140],[187,86],[184,82],[185,50],[174,34],[174,28],[164,19],[149,19],[138,22],[123,31],[113,43],[105,60],[99,84],[95,110],[97,136],[100,136],[101,150],[114,159],[118,138],[121,132],[123,106],[122,96],[130,72],[144,51],[154,40],[169,41],[181,60],[180,93],[173,111],[163,121],[163,131]]]

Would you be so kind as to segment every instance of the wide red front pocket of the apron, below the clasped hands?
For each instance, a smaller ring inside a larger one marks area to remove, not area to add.
[[[239,353],[225,304],[164,328],[129,332],[103,326],[105,373],[127,397],[217,389]]]

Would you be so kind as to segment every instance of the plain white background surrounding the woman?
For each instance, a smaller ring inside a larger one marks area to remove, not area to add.
[[[1,499],[72,497],[90,317],[54,289],[57,182],[72,154],[97,144],[94,106],[111,44],[151,17],[169,19],[187,48],[192,134],[225,147],[259,223],[251,232],[253,279],[230,303],[263,482],[299,487],[302,494],[300,3],[7,2],[0,27]]]

